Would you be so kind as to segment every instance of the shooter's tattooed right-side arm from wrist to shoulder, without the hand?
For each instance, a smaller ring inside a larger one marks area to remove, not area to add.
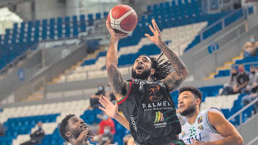
[[[169,91],[174,91],[186,78],[188,71],[182,60],[166,45],[165,42],[157,45],[159,49],[167,56],[175,72],[170,73],[164,83],[169,87]]]

